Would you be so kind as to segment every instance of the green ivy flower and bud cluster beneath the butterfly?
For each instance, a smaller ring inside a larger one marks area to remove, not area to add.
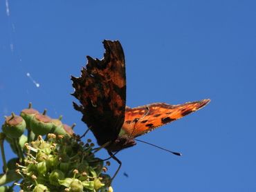
[[[91,140],[81,142],[73,127],[60,119],[51,119],[46,111],[40,114],[31,105],[20,116],[12,113],[6,117],[0,133],[4,170],[0,186],[15,182],[21,191],[113,191],[111,177],[104,174],[109,162],[104,165],[95,157],[97,150]],[[26,129],[28,134],[24,135]],[[4,140],[17,154],[8,163]],[[12,191],[12,186],[1,186],[0,191]]]

